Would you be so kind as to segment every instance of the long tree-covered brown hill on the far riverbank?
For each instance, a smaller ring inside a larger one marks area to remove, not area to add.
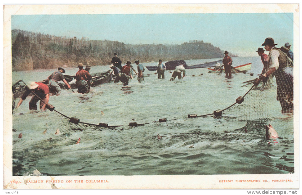
[[[130,60],[157,62],[176,59],[223,58],[223,51],[211,43],[191,40],[180,45],[131,45],[118,41],[87,40],[82,37],[67,38],[33,33],[24,30],[12,30],[12,71],[52,69],[77,63],[95,65],[111,64],[113,53],[123,64]]]

